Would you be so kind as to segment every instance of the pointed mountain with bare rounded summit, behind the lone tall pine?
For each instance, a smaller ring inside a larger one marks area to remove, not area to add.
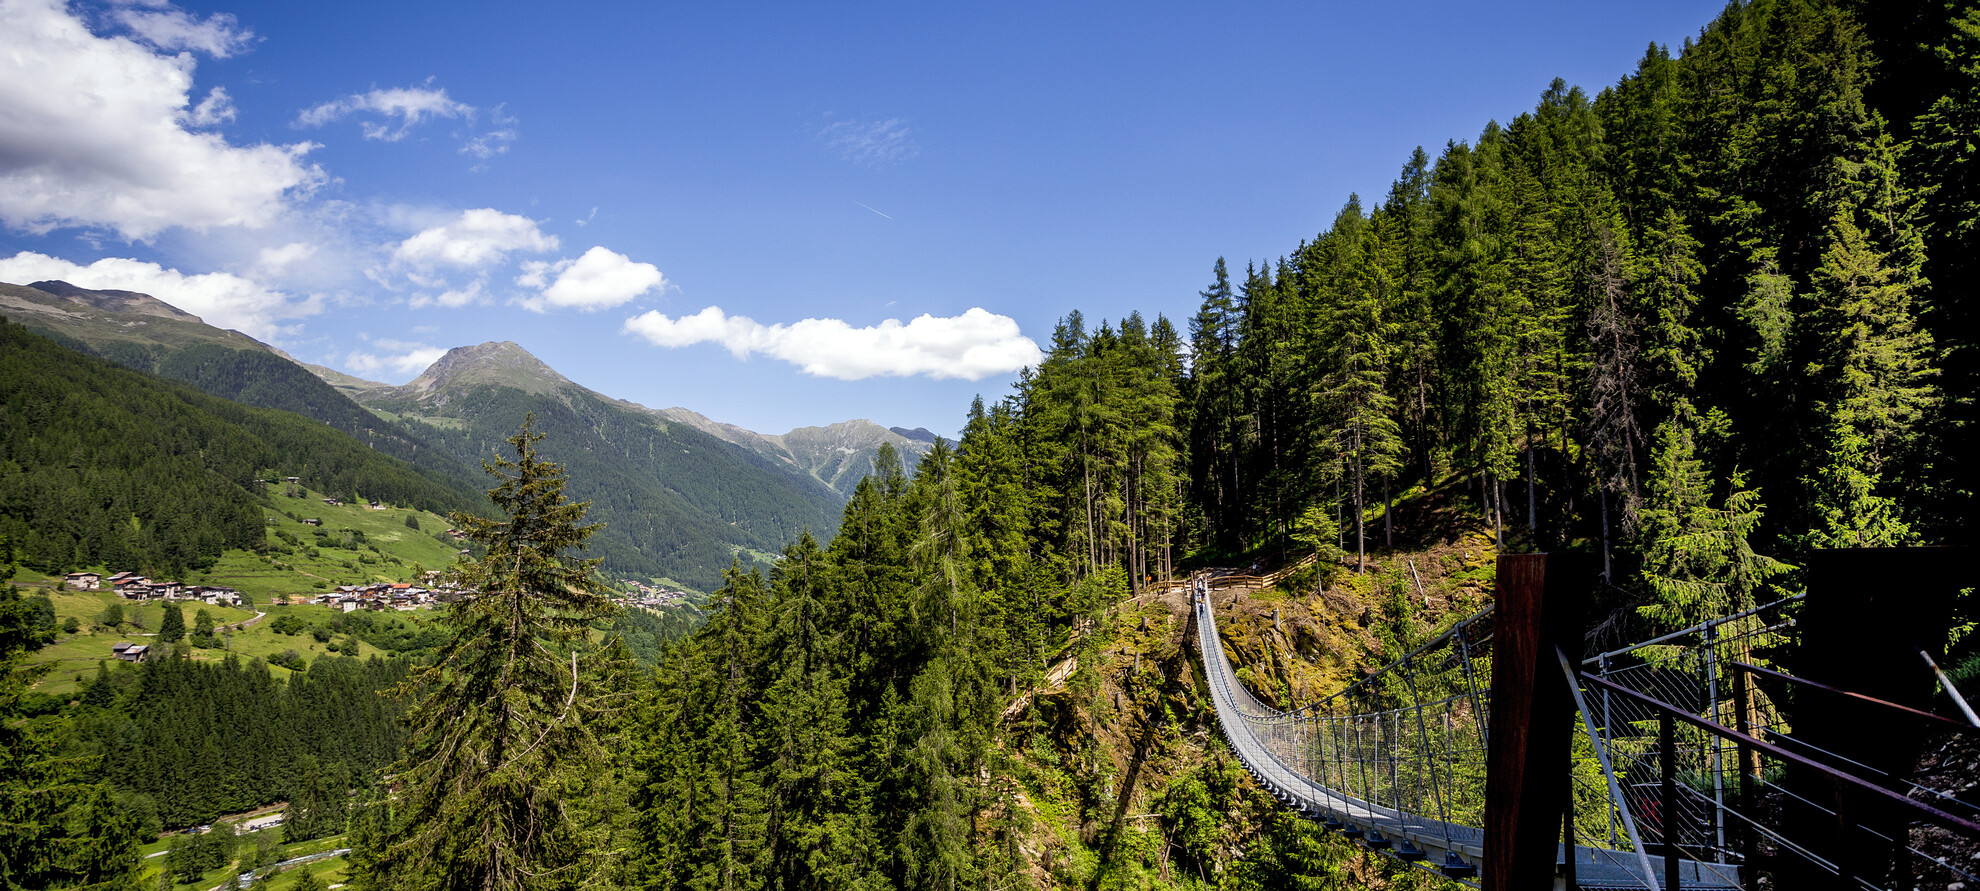
[[[586,390],[513,343],[449,350],[410,384],[360,396],[463,459],[491,455],[535,414],[543,455],[606,523],[592,550],[610,572],[715,588],[737,554],[750,562],[802,529],[838,529],[840,497],[816,479]]]

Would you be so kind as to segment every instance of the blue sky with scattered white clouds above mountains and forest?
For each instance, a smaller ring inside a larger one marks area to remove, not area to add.
[[[1067,311],[1184,325],[1216,257],[1721,8],[0,0],[0,281],[374,380],[515,341],[750,430],[954,434]]]

